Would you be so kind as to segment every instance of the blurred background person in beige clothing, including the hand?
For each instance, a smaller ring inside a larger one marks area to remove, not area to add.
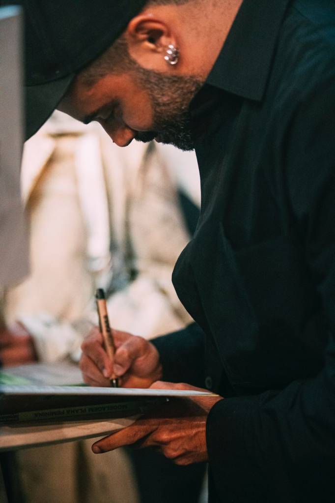
[[[191,152],[155,142],[120,149],[97,124],[55,112],[25,145],[31,274],[5,293],[3,365],[77,362],[97,322],[97,287],[114,328],[155,337],[190,322],[171,274],[197,221],[197,177]],[[122,450],[97,459],[90,445],[19,452],[25,501],[197,500],[204,466],[178,467],[151,451],[131,454],[133,464]]]

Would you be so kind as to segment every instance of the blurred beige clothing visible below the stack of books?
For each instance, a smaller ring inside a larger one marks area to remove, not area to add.
[[[93,454],[92,440],[16,453],[26,503],[138,503],[137,486],[122,449]]]

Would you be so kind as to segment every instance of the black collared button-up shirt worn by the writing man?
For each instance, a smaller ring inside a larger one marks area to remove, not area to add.
[[[228,397],[211,501],[333,502],[335,4],[244,0],[192,114],[201,214],[173,280],[197,325],[156,341],[164,377]]]

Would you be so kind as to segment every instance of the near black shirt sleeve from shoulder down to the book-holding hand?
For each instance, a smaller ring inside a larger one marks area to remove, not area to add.
[[[280,391],[227,398],[211,409],[209,466],[222,501],[242,503],[250,494],[258,503],[335,501],[334,131],[332,80],[298,104],[283,174],[292,224],[322,305],[323,368]]]

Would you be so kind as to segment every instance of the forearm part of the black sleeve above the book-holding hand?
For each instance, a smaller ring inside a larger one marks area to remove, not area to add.
[[[334,370],[332,338],[315,379],[214,405],[207,448],[222,501],[242,503],[250,494],[264,503],[335,500]]]

